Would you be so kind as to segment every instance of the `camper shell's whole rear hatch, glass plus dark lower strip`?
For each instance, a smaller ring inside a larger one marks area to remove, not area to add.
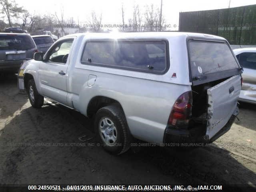
[[[241,73],[240,66],[226,42],[189,40],[188,52],[193,84]]]

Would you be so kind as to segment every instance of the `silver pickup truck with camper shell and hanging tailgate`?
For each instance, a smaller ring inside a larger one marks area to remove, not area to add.
[[[94,117],[105,150],[132,138],[160,146],[209,143],[239,110],[241,73],[226,39],[181,32],[72,34],[26,62],[20,88]],[[200,143],[198,143],[200,142]]]

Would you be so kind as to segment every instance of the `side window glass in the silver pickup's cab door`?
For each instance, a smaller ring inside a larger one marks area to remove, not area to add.
[[[49,61],[66,64],[73,40],[66,40],[56,44],[49,53]]]

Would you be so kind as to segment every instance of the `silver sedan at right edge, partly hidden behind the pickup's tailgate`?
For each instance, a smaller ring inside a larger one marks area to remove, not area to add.
[[[243,85],[238,100],[256,104],[256,48],[239,48],[233,51],[244,70]]]

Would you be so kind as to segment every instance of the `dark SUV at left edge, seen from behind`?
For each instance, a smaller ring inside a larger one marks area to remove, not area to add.
[[[36,51],[29,34],[0,33],[0,72],[18,72],[23,60],[32,59]]]

